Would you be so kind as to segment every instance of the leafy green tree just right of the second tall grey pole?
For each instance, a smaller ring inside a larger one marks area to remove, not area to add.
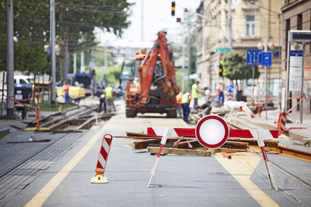
[[[66,51],[88,50],[95,46],[95,28],[122,36],[123,29],[130,25],[131,3],[126,0],[60,0],[60,55],[62,57],[61,77],[64,79]],[[68,57],[67,57],[68,58]]]

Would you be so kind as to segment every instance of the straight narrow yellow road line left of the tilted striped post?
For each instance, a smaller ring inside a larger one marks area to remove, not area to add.
[[[102,132],[98,132],[88,143],[81,149],[73,159],[71,159],[62,170],[60,170],[49,182],[42,188],[35,197],[33,197],[25,206],[42,206],[46,199],[53,193],[55,188],[65,179],[73,168],[79,163],[79,161],[86,155],[88,150],[96,143],[98,139],[102,137]]]

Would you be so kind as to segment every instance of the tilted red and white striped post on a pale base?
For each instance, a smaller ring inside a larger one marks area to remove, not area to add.
[[[109,151],[111,148],[111,142],[113,137],[111,135],[104,135],[102,138],[102,145],[100,146],[100,154],[97,158],[96,168],[95,168],[95,177],[91,178],[91,183],[94,184],[105,184],[108,183],[108,177],[104,177],[104,172],[107,164],[107,159]]]

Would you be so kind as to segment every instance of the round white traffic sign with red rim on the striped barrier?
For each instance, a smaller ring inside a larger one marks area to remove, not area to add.
[[[196,124],[196,139],[206,148],[219,148],[228,137],[229,126],[222,117],[207,115]]]

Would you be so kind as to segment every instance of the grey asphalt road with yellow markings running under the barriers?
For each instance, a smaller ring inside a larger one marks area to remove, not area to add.
[[[144,115],[126,118],[124,113],[106,124],[94,126],[73,142],[70,150],[1,206],[311,206],[310,186],[272,164],[279,192],[270,187],[260,155],[240,152],[221,155],[161,156],[147,188],[156,156],[133,150],[131,139],[113,138],[104,176],[108,184],[91,184],[103,135],[125,136],[147,132],[147,127],[189,126],[182,119]],[[276,156],[268,154],[274,159]],[[278,157],[308,170],[308,162]],[[18,188],[18,187],[17,187]]]

